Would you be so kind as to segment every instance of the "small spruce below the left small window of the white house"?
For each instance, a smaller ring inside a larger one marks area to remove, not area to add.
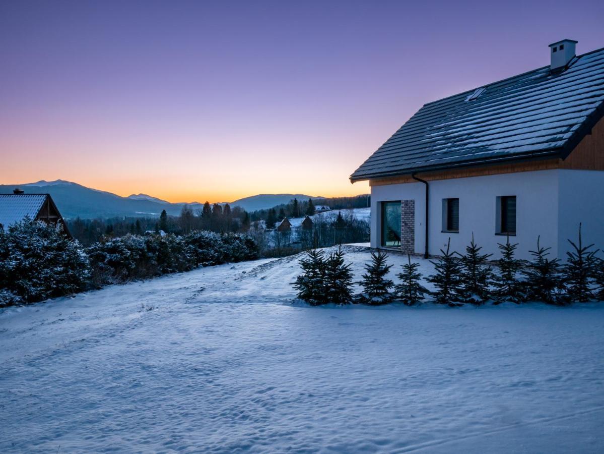
[[[442,254],[434,265],[435,274],[428,277],[436,291],[431,292],[434,302],[448,304],[449,306],[461,305],[461,264],[455,257],[455,252],[450,252],[451,238],[447,242],[447,250],[440,250]]]

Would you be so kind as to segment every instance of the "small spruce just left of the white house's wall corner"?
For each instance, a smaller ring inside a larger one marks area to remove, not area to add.
[[[541,247],[540,236],[537,237],[537,248],[529,251],[534,257],[526,265],[523,272],[526,281],[526,297],[528,300],[542,301],[548,304],[557,302],[557,290],[563,287],[559,275],[558,259],[548,259],[550,247]]]

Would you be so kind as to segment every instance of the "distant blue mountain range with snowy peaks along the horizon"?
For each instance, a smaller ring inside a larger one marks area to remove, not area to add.
[[[162,210],[169,215],[179,215],[182,206],[189,205],[193,211],[201,210],[203,203],[170,203],[168,201],[147,195],[132,194],[122,197],[117,194],[92,189],[71,181],[40,180],[36,183],[26,184],[2,184],[0,194],[11,194],[13,189],[19,187],[25,193],[49,193],[53,196],[59,211],[65,218],[111,218],[114,216],[159,216]],[[231,207],[239,206],[252,212],[264,210],[282,203],[288,203],[291,199],[320,199],[304,194],[259,194],[245,197],[229,204]]]

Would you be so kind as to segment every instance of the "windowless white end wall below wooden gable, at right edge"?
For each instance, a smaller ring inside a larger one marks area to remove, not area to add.
[[[562,259],[579,237],[582,222],[583,244],[595,243],[604,250],[604,172],[599,170],[559,170],[558,250]]]

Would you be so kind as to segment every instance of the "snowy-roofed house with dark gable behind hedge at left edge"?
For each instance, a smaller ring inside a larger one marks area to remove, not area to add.
[[[15,189],[12,194],[0,194],[0,225],[4,229],[28,216],[48,224],[60,223],[69,236],[67,224],[50,194],[25,194]]]

